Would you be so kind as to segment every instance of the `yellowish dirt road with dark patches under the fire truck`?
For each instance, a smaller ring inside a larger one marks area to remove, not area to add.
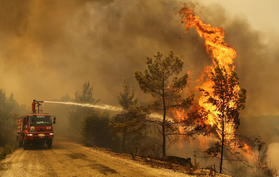
[[[3,177],[90,177],[90,176],[160,176],[188,175],[171,170],[154,169],[130,159],[113,157],[108,153],[81,144],[55,139],[51,149],[19,148],[0,162]]]

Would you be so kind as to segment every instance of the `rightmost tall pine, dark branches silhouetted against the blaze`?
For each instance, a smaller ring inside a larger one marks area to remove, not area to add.
[[[246,90],[239,91],[239,82],[237,74],[234,70],[229,72],[224,66],[221,66],[215,59],[214,70],[210,70],[211,80],[213,82],[212,91],[203,92],[206,98],[205,103],[211,106],[213,111],[208,111],[212,122],[208,124],[213,130],[214,135],[219,141],[214,147],[206,149],[205,153],[208,157],[217,157],[220,160],[220,173],[222,173],[223,161],[241,161],[248,165],[248,160],[237,152],[236,148],[240,147],[238,139],[235,138],[235,127],[240,125],[239,110],[245,108]],[[224,157],[224,150],[226,150],[227,158]]]

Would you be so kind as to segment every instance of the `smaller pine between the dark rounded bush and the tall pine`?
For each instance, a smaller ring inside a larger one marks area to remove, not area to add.
[[[142,121],[146,114],[137,106],[138,98],[135,98],[133,86],[131,87],[130,91],[123,78],[122,91],[118,95],[118,102],[123,111],[114,116],[109,124],[120,136],[121,148],[124,153],[126,153],[126,144],[130,146],[139,144],[146,129],[145,122]]]

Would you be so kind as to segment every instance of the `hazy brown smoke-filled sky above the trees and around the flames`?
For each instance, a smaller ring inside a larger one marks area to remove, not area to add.
[[[237,50],[246,113],[278,115],[279,1],[198,2],[201,20],[223,27],[225,41]],[[126,77],[139,103],[146,103],[150,96],[140,91],[134,70],[144,70],[146,56],[158,50],[174,50],[184,61],[183,72],[194,71],[194,86],[212,62],[195,30],[184,33],[181,6],[178,0],[0,1],[0,88],[30,106],[33,99],[73,97],[89,80],[100,103],[117,105]]]

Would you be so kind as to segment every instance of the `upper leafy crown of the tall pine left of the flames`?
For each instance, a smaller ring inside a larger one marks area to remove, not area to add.
[[[187,109],[191,105],[194,95],[187,99],[181,99],[180,92],[187,85],[188,74],[182,77],[172,77],[182,71],[183,62],[179,57],[170,51],[169,55],[162,60],[162,53],[159,51],[154,55],[155,60],[147,56],[148,69],[142,73],[135,70],[135,78],[144,93],[150,93],[156,101],[149,108],[154,111],[163,111],[170,108]],[[172,77],[172,82],[170,81]],[[165,107],[163,105],[165,104]]]

